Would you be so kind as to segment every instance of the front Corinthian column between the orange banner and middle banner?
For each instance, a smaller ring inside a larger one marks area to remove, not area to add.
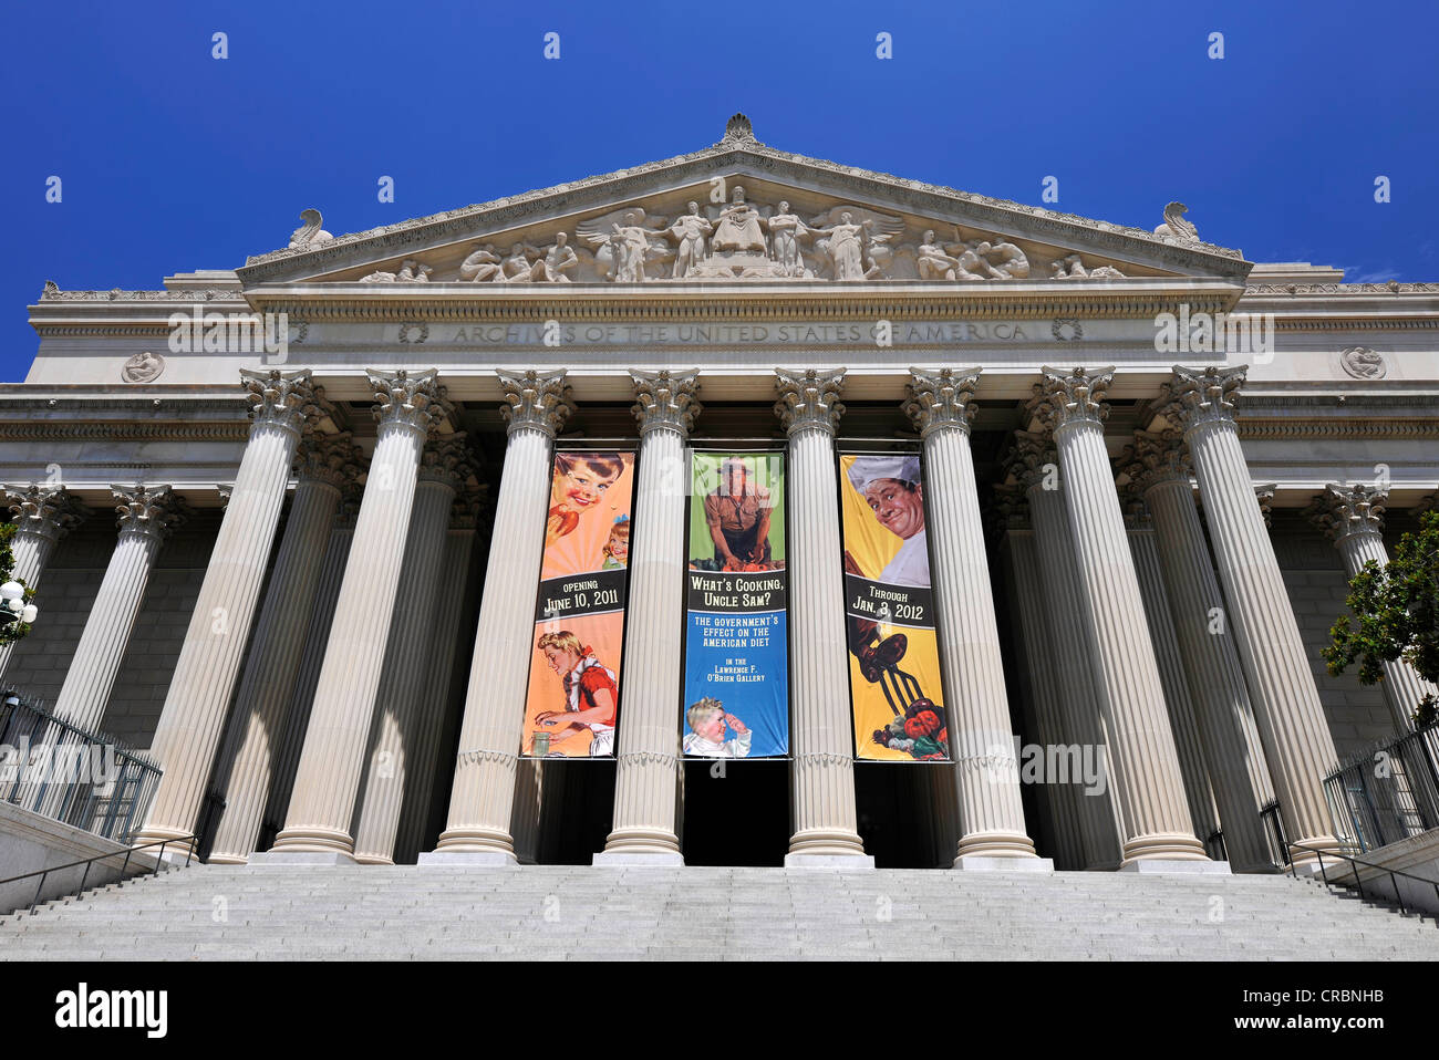
[[[675,836],[685,626],[685,439],[699,416],[698,373],[632,371],[639,483],[630,544],[625,726],[614,828],[596,864],[684,864]]]

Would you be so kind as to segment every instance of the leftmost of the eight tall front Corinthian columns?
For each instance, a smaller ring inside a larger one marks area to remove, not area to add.
[[[319,417],[308,370],[242,370],[240,381],[250,403],[250,439],[160,712],[151,752],[164,775],[137,843],[183,840],[196,828],[265,584],[295,446]]]

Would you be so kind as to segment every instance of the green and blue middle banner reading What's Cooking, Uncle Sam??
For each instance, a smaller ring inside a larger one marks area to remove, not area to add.
[[[691,452],[686,758],[790,749],[784,454]]]

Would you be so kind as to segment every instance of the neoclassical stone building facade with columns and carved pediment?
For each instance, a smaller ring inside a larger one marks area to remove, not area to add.
[[[1403,663],[1331,677],[1320,649],[1347,574],[1439,486],[1439,283],[1250,263],[1179,204],[1150,232],[804,158],[740,115],[543,191],[338,237],[304,220],[155,291],[46,283],[33,367],[0,387],[42,611],[3,682],[150,749],[135,841],[1263,872],[1276,820],[1334,846],[1325,774],[1427,690]],[[600,450],[627,454],[594,488],[632,499],[603,554],[622,667],[537,640],[581,521],[555,456]],[[783,564],[755,567],[784,572],[787,744],[753,761],[682,746],[708,723],[686,713],[701,450],[783,457]],[[891,702],[894,738],[855,722],[856,675],[904,676],[875,654],[904,641],[855,640],[840,503],[869,480],[842,453],[922,469],[940,687]],[[564,699],[534,722],[541,677]],[[866,757],[932,738],[935,703],[943,754]],[[564,712],[612,754],[535,754]],[[1053,748],[1098,774],[1055,777]]]

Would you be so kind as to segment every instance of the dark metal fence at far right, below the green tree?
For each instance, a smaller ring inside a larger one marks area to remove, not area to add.
[[[1439,827],[1439,725],[1407,732],[1324,778],[1334,834],[1360,851]]]

